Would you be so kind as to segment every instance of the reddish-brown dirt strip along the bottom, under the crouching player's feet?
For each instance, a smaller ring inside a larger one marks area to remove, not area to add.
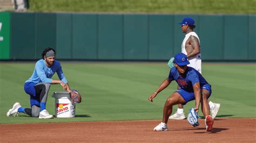
[[[216,119],[206,132],[204,119],[169,120],[169,131],[155,132],[160,120],[1,124],[1,142],[256,142],[256,118]]]

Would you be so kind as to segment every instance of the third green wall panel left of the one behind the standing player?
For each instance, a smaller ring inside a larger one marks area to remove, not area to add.
[[[123,59],[123,15],[99,15],[98,49],[99,60]]]

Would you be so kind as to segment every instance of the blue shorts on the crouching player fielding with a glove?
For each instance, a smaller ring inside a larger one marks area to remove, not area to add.
[[[208,90],[210,92],[209,97],[211,96],[212,89],[211,89],[211,85],[210,84],[205,84],[201,89]],[[193,101],[195,99],[194,98],[194,92],[187,92],[187,91],[185,91],[182,88],[180,88],[179,90],[176,90],[176,92],[178,92],[181,95],[181,97],[185,100],[185,103],[183,103],[183,105],[185,105],[185,104],[187,104],[187,102]]]

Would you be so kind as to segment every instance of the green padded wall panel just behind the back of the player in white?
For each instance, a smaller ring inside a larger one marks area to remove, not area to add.
[[[200,50],[203,60],[223,60],[223,16],[199,16]]]

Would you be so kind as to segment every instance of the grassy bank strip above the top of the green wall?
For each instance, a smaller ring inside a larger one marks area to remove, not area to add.
[[[256,13],[256,0],[31,0],[29,11]]]

